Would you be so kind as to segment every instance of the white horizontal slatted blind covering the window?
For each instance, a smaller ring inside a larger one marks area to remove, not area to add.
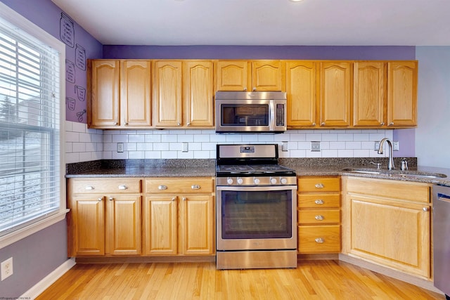
[[[60,211],[60,70],[56,49],[0,18],[0,236]]]

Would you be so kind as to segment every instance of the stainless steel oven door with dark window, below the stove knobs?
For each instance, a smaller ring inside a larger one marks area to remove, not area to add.
[[[297,249],[297,187],[217,187],[217,251]]]

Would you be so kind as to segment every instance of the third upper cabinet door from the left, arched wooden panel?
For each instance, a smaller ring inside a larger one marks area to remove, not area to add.
[[[157,60],[153,67],[153,102],[156,127],[181,126],[181,61]]]

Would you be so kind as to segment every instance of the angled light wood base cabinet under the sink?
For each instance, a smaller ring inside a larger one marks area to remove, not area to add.
[[[342,252],[430,278],[428,183],[343,177]]]

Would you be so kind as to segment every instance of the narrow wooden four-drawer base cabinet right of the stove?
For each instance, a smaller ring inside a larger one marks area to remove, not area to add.
[[[297,177],[299,254],[340,252],[340,177]]]

